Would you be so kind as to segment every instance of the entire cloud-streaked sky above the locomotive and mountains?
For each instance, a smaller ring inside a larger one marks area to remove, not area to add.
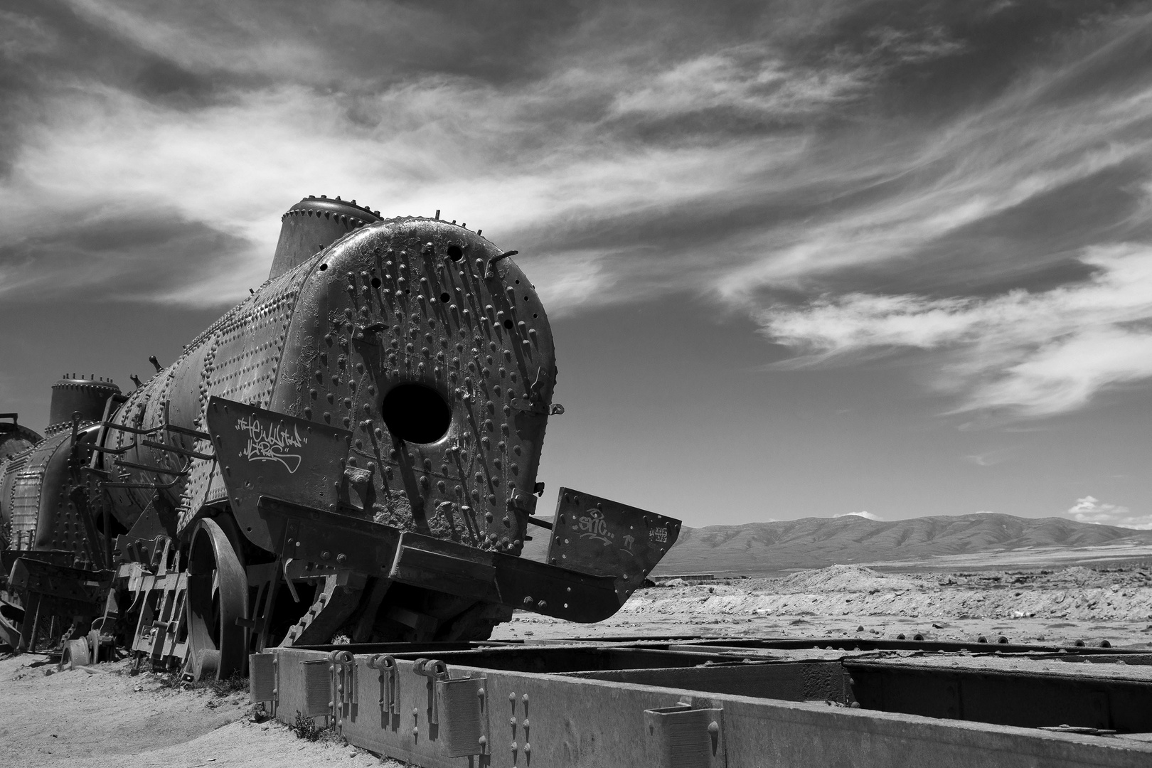
[[[1152,3],[0,2],[0,410],[146,374],[340,195],[556,337],[541,507],[1152,529]]]

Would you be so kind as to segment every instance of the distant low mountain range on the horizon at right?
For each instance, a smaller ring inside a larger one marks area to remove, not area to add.
[[[525,546],[524,556],[544,560],[547,543],[546,531],[537,531],[535,540]],[[1107,549],[1084,549],[1087,547]],[[763,576],[836,563],[893,567],[939,563],[963,570],[1021,562],[1039,568],[1046,560],[1062,567],[1105,560],[1126,548],[1132,549],[1134,557],[1152,557],[1152,531],[1059,517],[990,514],[892,522],[854,515],[805,517],[702,529],[684,526],[654,572]]]

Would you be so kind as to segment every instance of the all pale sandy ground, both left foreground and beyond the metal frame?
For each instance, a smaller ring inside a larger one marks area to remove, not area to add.
[[[858,565],[779,579],[732,579],[637,592],[600,624],[520,614],[493,639],[609,637],[869,637],[922,632],[973,641],[1152,647],[1147,569],[881,573]],[[29,768],[295,768],[402,763],[339,738],[305,742],[256,722],[247,691],[185,689],[130,675],[128,662],[54,672],[44,655],[0,656],[0,765]],[[54,672],[54,674],[50,674]]]

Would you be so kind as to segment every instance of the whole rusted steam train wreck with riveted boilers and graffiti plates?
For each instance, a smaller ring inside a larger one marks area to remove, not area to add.
[[[679,522],[564,488],[554,523],[535,516],[562,409],[514,254],[439,212],[310,197],[268,281],[170,366],[127,394],[60,382],[47,436],[0,464],[9,641],[52,621],[226,676],[338,634],[615,613]],[[518,557],[532,530],[546,562]]]

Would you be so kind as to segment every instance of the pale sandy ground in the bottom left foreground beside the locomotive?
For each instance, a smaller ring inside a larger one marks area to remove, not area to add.
[[[12,768],[388,766],[338,739],[306,742],[252,722],[248,692],[165,685],[127,662],[46,675],[40,654],[0,657],[0,765]]]

